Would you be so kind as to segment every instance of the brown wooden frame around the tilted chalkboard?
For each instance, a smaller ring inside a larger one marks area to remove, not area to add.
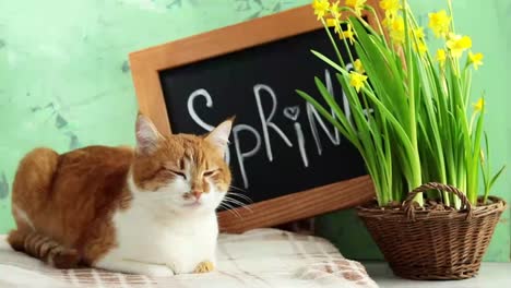
[[[377,0],[367,1],[378,8]],[[379,13],[379,12],[378,12]],[[375,23],[371,14],[368,22]],[[284,25],[283,25],[284,23]],[[129,55],[139,109],[163,133],[171,133],[159,71],[264,45],[321,28],[310,5],[287,10]],[[200,47],[200,48],[198,48]],[[297,96],[298,97],[298,96]],[[242,232],[354,207],[373,199],[368,176],[326,184],[289,195],[258,202],[247,207],[218,213],[221,230]]]

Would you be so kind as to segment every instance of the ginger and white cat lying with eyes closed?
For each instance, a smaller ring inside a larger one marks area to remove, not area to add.
[[[36,148],[12,191],[14,250],[59,268],[168,276],[214,268],[215,209],[230,184],[231,120],[206,135],[161,135],[136,119],[136,147]]]

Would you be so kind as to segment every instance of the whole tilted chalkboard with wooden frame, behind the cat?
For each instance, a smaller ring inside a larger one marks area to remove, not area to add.
[[[320,98],[319,76],[347,109],[335,71],[311,49],[336,57],[306,5],[130,53],[139,108],[162,133],[204,134],[236,116],[227,155],[233,185],[253,203],[219,212],[224,231],[284,224],[373,197],[357,151],[295,92]],[[347,51],[341,53],[349,62]]]

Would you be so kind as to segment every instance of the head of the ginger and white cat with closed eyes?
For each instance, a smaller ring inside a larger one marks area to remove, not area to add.
[[[158,133],[151,120],[136,119],[131,185],[141,200],[177,213],[214,211],[230,184],[224,159],[233,120],[204,135]]]

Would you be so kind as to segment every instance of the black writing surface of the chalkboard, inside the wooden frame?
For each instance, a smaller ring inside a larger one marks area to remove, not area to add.
[[[236,115],[229,145],[234,185],[254,202],[366,172],[357,151],[295,92],[318,94],[318,75],[342,104],[335,71],[312,48],[335,59],[319,28],[159,72],[174,133],[203,134]],[[345,49],[341,55],[349,61]]]

